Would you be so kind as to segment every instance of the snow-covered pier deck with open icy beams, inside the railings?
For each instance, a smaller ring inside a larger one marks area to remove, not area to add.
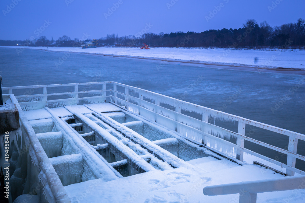
[[[284,177],[231,162],[110,103],[24,113],[71,202],[238,202],[238,194],[205,196],[202,189]]]

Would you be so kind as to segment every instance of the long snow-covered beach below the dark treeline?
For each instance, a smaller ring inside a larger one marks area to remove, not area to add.
[[[224,49],[224,48],[151,48],[140,50],[139,47],[98,47],[82,49],[81,47],[18,47],[17,54],[24,49],[41,49],[47,51],[63,51],[74,53],[102,54],[132,58],[149,58],[155,60],[179,61],[219,66],[218,68],[249,69],[263,68],[271,70],[305,70],[305,51],[299,49]],[[258,58],[254,64],[254,58]],[[225,67],[223,67],[225,66]],[[303,71],[302,71],[303,72]]]

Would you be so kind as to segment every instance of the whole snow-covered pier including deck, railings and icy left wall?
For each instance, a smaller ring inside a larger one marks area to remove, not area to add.
[[[300,133],[117,82],[4,87],[3,92],[20,117],[20,129],[10,133],[15,202],[305,199],[305,172],[296,168],[297,159],[305,161],[297,148],[298,140],[305,141]],[[287,136],[288,150],[251,138],[245,132],[253,127]],[[254,152],[245,142],[287,160]]]

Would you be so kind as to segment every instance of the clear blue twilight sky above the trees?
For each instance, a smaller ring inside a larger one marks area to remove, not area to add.
[[[1,0],[0,9],[1,40],[202,32],[239,28],[246,19],[271,26],[305,19],[304,0]]]

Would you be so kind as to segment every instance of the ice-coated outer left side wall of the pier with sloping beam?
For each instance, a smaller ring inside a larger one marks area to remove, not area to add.
[[[5,95],[19,111],[20,128],[10,133],[10,194],[9,201],[22,195],[24,200],[38,202],[70,202],[52,163],[42,148],[31,124],[14,95]]]

